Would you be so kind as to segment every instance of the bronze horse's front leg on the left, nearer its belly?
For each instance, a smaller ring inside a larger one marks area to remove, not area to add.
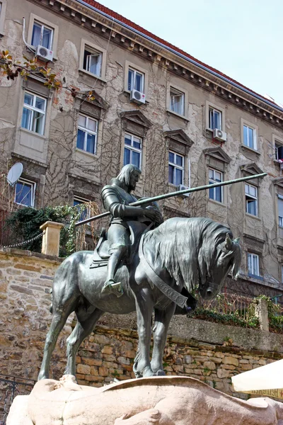
[[[149,347],[151,343],[151,317],[154,310],[154,302],[149,289],[143,288],[136,293],[137,331],[139,334],[139,346],[137,356],[134,359],[134,374],[136,378],[152,376]]]

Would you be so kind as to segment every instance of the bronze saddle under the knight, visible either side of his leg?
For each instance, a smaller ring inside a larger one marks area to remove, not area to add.
[[[144,222],[129,221],[127,222],[127,224],[129,226],[131,244],[129,246],[129,255],[127,259],[125,259],[124,261],[125,264],[131,263],[132,257],[139,249],[141,234],[146,232],[146,228],[148,228],[148,230],[150,228]],[[110,254],[108,251],[109,251],[109,242],[107,239],[107,232],[106,232],[106,229],[103,227],[100,233],[98,244],[96,246],[96,249],[93,252],[93,261],[91,263],[90,268],[98,268],[98,267],[107,266],[108,260],[110,258]]]

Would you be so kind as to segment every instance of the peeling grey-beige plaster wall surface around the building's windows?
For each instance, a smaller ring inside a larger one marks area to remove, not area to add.
[[[69,2],[71,4],[71,2]],[[78,6],[79,7],[79,6]],[[53,9],[54,10],[54,9]],[[46,137],[40,154],[23,145],[21,130],[21,112],[23,108],[24,81],[18,77],[8,81],[1,77],[0,96],[0,140],[1,170],[6,171],[7,163],[22,161],[25,175],[33,178],[45,177],[45,184],[37,186],[36,207],[58,205],[72,202],[76,187],[80,188],[83,198],[98,200],[100,188],[120,171],[123,161],[124,134],[120,113],[140,111],[151,122],[143,140],[142,177],[137,186],[138,196],[154,196],[175,187],[168,185],[168,149],[169,142],[164,132],[182,129],[193,144],[188,150],[187,159],[191,164],[191,185],[197,186],[208,182],[207,156],[204,149],[219,147],[207,135],[205,116],[206,102],[209,101],[225,112],[227,142],[221,146],[229,155],[231,162],[226,165],[224,179],[241,176],[240,166],[256,163],[269,176],[260,181],[260,217],[250,217],[245,213],[244,186],[234,185],[224,188],[224,205],[208,199],[207,193],[196,193],[190,198],[171,198],[161,202],[166,217],[172,215],[209,216],[231,227],[234,237],[240,237],[243,246],[243,275],[247,275],[246,236],[262,239],[261,272],[277,280],[276,293],[282,293],[281,262],[283,260],[283,239],[279,237],[277,226],[276,186],[272,179],[281,176],[279,165],[273,162],[270,154],[272,135],[283,137],[283,132],[272,123],[257,118],[220,96],[206,91],[194,82],[171,72],[158,60],[143,57],[132,48],[115,42],[115,38],[93,33],[79,21],[70,21],[63,13],[57,13],[47,5],[40,6],[37,1],[9,0],[6,11],[5,36],[1,38],[1,47],[11,50],[13,57],[22,55],[32,57],[22,41],[23,21],[25,16],[25,35],[27,37],[30,13],[59,26],[57,60],[49,63],[60,78],[65,77],[67,86],[81,90],[93,89],[104,102],[104,108],[91,106],[93,116],[98,118],[98,146],[96,155],[78,152],[76,149],[76,121],[80,101],[74,99],[70,92],[60,89],[50,91],[47,108]],[[74,23],[76,22],[76,23]],[[92,77],[79,70],[81,39],[88,40],[107,50],[105,81]],[[170,59],[174,58],[168,52]],[[141,67],[148,76],[146,104],[137,106],[129,102],[125,92],[126,61],[132,66]],[[187,92],[187,117],[166,111],[169,86],[178,86]],[[86,106],[86,102],[83,102]],[[99,116],[98,116],[99,115]],[[258,126],[258,153],[241,146],[241,119]],[[40,159],[41,158],[41,159]],[[187,164],[185,168],[185,185],[188,184]],[[279,246],[279,248],[277,248]],[[262,285],[262,282],[258,282]],[[245,293],[246,281],[241,290]],[[267,282],[265,280],[265,285]],[[268,293],[268,286],[262,285],[262,292]],[[247,292],[247,291],[246,291]]]

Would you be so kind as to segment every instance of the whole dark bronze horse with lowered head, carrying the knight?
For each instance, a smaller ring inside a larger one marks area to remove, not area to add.
[[[91,268],[92,264],[93,251],[79,251],[65,259],[55,273],[53,316],[39,380],[49,378],[52,351],[71,312],[75,312],[77,322],[67,339],[65,374],[75,375],[79,346],[103,313],[127,314],[136,310],[139,346],[134,373],[137,378],[164,375],[163,350],[176,305],[189,305],[183,294],[189,295],[197,288],[203,299],[212,299],[230,271],[236,279],[241,247],[228,227],[208,218],[171,218],[144,232],[140,242],[132,245],[129,263],[116,273],[122,283],[120,297],[102,291],[107,263],[102,261],[96,268]],[[150,360],[153,311],[154,349]]]

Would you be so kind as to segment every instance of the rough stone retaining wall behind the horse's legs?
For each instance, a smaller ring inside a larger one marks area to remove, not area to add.
[[[56,257],[30,251],[0,251],[0,373],[37,378],[51,320],[50,288],[59,263]],[[70,317],[52,356],[51,375],[56,379],[64,372],[72,322]],[[135,329],[135,314],[105,314],[96,334],[79,350],[79,382],[100,386],[113,378],[134,378]],[[232,375],[283,358],[283,336],[265,331],[174,317],[169,334],[163,358],[166,372],[198,378],[228,394],[233,394]]]

